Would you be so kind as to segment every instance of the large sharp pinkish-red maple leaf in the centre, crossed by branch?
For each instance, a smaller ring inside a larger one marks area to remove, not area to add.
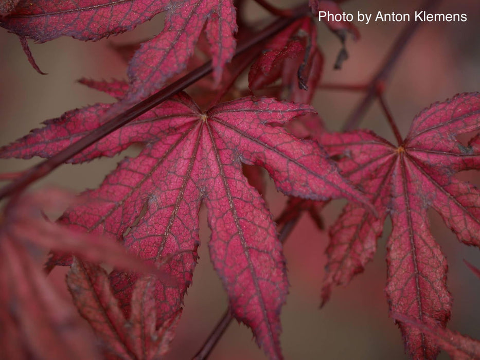
[[[115,87],[117,91],[118,87]],[[1,150],[2,156],[48,156],[98,126],[103,105],[67,113]],[[155,282],[157,326],[170,319],[192,278],[203,202],[212,230],[211,260],[230,307],[272,358],[281,357],[279,313],[287,294],[285,260],[272,217],[247,183],[242,163],[264,167],[279,190],[310,199],[344,196],[365,201],[314,141],[298,140],[279,124],[312,112],[309,105],[240,98],[202,112],[186,94],[175,96],[106,136],[72,159],[111,156],[133,142],[146,143],[102,185],[94,199],[64,214],[74,228],[108,233],[141,258],[162,267],[177,285]],[[128,318],[138,276],[114,271],[113,292]]]

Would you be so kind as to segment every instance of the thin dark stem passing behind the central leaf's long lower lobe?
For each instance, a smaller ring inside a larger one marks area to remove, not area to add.
[[[291,234],[292,230],[295,228],[295,225],[298,223],[298,220],[300,217],[296,217],[282,226],[279,234],[278,234],[278,240],[280,242],[285,243],[289,235]],[[228,326],[230,325],[230,322],[234,319],[232,312],[230,311],[230,308],[228,308],[224,313],[222,318],[217,322],[217,326],[215,327],[214,330],[208,335],[207,339],[203,343],[202,347],[200,350],[192,357],[192,360],[204,360],[210,355],[211,351],[215,348],[215,346],[218,344],[218,341],[220,338],[223,336],[225,333],[225,330],[227,330]]]

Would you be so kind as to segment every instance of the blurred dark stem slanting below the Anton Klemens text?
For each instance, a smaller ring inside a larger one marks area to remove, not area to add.
[[[439,3],[440,0],[426,0],[418,9],[418,11],[429,12],[434,6]],[[350,131],[358,127],[360,121],[367,112],[371,103],[377,97],[379,86],[383,87],[388,80],[388,77],[390,76],[390,73],[392,73],[393,68],[397,64],[400,55],[402,54],[408,42],[410,42],[410,40],[412,39],[414,33],[417,31],[420,24],[420,22],[414,21],[408,23],[403,28],[394,45],[388,52],[388,55],[385,58],[383,64],[380,66],[380,69],[377,71],[377,74],[368,84],[364,98],[360,101],[357,107],[355,107],[353,112],[350,114],[350,117],[345,122],[345,125],[342,129],[343,131]]]

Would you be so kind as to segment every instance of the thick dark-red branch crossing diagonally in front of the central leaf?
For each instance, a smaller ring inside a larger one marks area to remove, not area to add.
[[[251,47],[265,41],[266,39],[269,39],[272,35],[281,31],[282,29],[290,25],[292,22],[294,22],[296,19],[298,19],[298,17],[306,15],[309,12],[308,4],[305,3],[303,5],[300,5],[293,9],[292,12],[292,17],[281,17],[280,19],[277,19],[271,25],[267,26],[254,37],[252,37],[250,40],[247,40],[244,43],[240,44],[237,48],[237,51],[235,52],[235,56],[240,55]],[[114,132],[115,130],[121,128],[123,125],[129,123],[138,116],[153,109],[153,107],[158,106],[172,95],[181,92],[186,87],[200,80],[204,76],[210,74],[211,71],[212,63],[211,61],[208,61],[205,64],[197,67],[196,69],[190,71],[190,73],[183,76],[179,80],[173,82],[172,84],[164,87],[157,93],[151,95],[147,99],[133,105],[125,112],[113,116],[111,119],[104,122],[102,125],[100,125],[100,127],[92,131],[90,134],[81,138],[69,147],[63,149],[56,155],[26,170],[22,174],[22,176],[16,178],[10,184],[1,188],[0,200],[6,196],[10,196],[14,193],[19,193],[23,191],[31,183],[49,174],[58,166],[65,163],[65,161],[74,157],[76,154],[91,146],[93,143]]]

